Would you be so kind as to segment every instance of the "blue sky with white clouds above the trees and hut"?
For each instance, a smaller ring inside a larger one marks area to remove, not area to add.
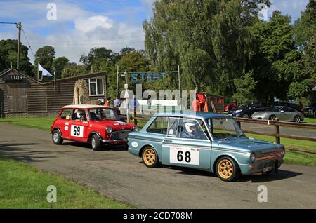
[[[308,3],[308,0],[270,1],[272,5],[262,13],[265,20],[275,10],[296,20]],[[152,17],[153,3],[154,0],[0,0],[0,22],[22,23],[21,41],[25,46],[29,41],[32,63],[33,53],[45,45],[55,48],[56,58],[65,56],[78,63],[80,56],[93,47],[104,46],[114,52],[125,46],[143,49],[142,24]],[[0,39],[17,37],[15,25],[0,24]]]

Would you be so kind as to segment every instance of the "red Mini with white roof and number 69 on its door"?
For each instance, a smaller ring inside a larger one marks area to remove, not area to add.
[[[127,136],[136,130],[133,124],[120,121],[111,107],[90,104],[62,107],[51,126],[53,143],[86,142],[93,150],[100,149],[102,144],[127,145]]]

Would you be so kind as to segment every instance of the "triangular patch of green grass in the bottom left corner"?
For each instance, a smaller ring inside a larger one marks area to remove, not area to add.
[[[0,179],[0,208],[133,208],[64,177],[1,156]],[[55,203],[46,200],[49,185],[56,187]]]

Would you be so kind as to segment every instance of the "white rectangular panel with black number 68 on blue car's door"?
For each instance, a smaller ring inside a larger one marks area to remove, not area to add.
[[[193,147],[170,147],[170,163],[199,165],[199,149]]]

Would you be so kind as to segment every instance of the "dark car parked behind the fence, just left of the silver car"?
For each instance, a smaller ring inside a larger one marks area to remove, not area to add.
[[[259,112],[267,109],[267,104],[263,102],[248,102],[246,104],[242,104],[239,107],[233,109],[233,111],[228,114],[236,117],[242,117],[242,118],[250,118],[254,112]]]

